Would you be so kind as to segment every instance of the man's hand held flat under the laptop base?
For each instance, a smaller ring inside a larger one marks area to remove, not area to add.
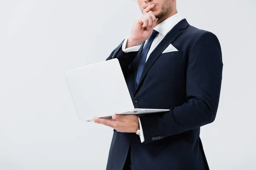
[[[93,120],[95,123],[112,127],[118,132],[136,133],[139,127],[139,119],[136,115],[115,114],[112,119],[94,118]]]

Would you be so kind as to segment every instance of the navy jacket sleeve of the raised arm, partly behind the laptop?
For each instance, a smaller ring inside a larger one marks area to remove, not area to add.
[[[117,48],[115,48],[110,56],[106,59],[114,59],[117,58],[119,61],[119,64],[122,68],[122,72],[124,74],[124,77],[126,77],[126,75],[128,75],[128,66],[131,64],[131,62],[134,60],[134,58],[136,57],[138,51],[131,51],[131,52],[124,52],[122,50],[122,44],[124,41],[121,42],[121,44],[118,45]]]

